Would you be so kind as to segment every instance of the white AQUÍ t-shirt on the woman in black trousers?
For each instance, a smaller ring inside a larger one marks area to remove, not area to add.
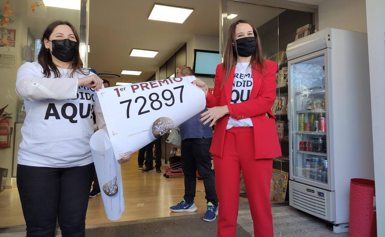
[[[59,71],[60,78],[54,78],[52,71],[51,78],[44,78],[42,66],[33,62],[23,64],[17,72],[16,91],[23,97],[27,113],[18,164],[74,167],[93,162],[89,144],[94,133],[92,112],[101,113],[96,91],[77,86],[77,78],[88,75],[75,73],[70,78],[71,70]]]

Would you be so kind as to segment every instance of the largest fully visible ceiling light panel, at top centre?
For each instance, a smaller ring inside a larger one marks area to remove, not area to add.
[[[155,4],[149,20],[183,23],[194,9]]]

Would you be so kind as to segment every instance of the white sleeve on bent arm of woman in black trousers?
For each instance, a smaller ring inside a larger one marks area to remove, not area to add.
[[[24,99],[76,99],[77,78],[42,78],[32,63],[23,64],[17,71],[16,93]]]

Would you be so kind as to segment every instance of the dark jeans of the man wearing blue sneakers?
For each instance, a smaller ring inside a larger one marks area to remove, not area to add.
[[[182,170],[184,174],[184,200],[190,204],[196,192],[196,170],[203,179],[207,202],[218,206],[214,171],[209,152],[212,138],[190,138],[182,141]]]

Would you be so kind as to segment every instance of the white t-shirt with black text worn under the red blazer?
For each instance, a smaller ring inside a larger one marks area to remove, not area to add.
[[[253,89],[253,73],[250,63],[237,63],[233,81],[233,90],[231,91],[231,104],[248,101]],[[229,117],[226,129],[232,127],[252,127],[253,122],[250,118],[237,120]]]

